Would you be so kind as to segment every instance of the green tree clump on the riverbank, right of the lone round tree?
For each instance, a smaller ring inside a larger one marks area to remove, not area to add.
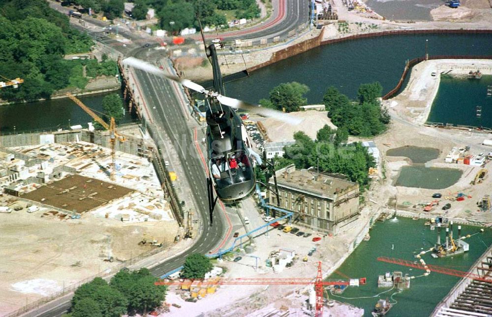
[[[351,101],[331,86],[323,96],[323,103],[338,129],[346,129],[351,135],[370,137],[385,131],[390,123],[388,110],[379,101],[382,89],[378,82],[363,84],[359,86],[357,100]]]

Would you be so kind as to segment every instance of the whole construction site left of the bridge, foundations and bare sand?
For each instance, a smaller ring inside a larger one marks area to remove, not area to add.
[[[136,128],[125,132],[136,136]],[[3,147],[0,159],[0,313],[166,250],[183,234],[146,157],[74,140]]]

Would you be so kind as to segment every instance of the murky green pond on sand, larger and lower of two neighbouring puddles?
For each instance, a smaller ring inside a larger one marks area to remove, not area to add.
[[[425,167],[420,164],[403,166],[395,186],[443,189],[455,184],[462,173],[458,169]]]

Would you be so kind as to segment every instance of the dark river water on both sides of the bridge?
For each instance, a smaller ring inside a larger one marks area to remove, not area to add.
[[[353,98],[360,84],[379,81],[383,93],[400,80],[405,60],[421,57],[429,39],[431,55],[492,55],[491,34],[395,35],[359,39],[315,48],[306,53],[259,69],[250,78],[226,84],[227,95],[257,103],[268,98],[273,87],[297,81],[311,89],[308,103],[321,103],[328,86],[336,86]],[[222,66],[225,67],[225,66]],[[104,94],[83,96],[89,107],[101,110]],[[0,106],[0,132],[51,130],[92,121],[69,99]],[[126,117],[123,122],[133,120]]]

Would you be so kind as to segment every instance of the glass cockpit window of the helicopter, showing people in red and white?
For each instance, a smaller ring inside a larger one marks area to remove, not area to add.
[[[217,186],[227,186],[251,180],[253,168],[244,150],[211,159],[210,170]]]

